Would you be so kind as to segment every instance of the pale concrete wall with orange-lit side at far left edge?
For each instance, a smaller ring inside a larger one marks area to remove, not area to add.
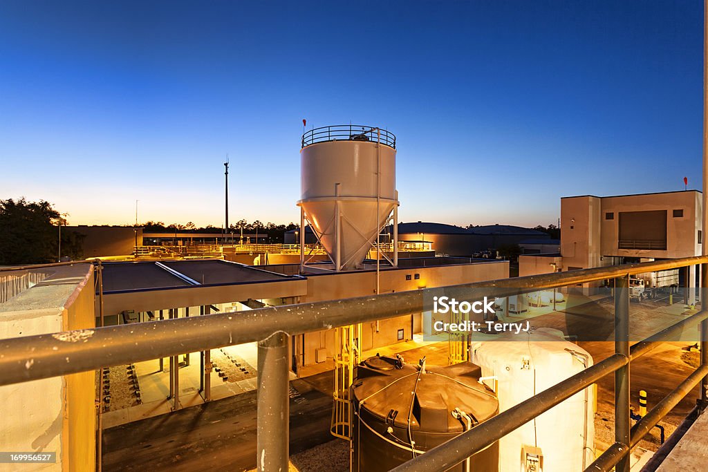
[[[0,338],[93,328],[91,265],[56,267],[51,272],[42,282],[0,304]],[[57,453],[56,464],[33,464],[32,470],[93,470],[94,375],[88,372],[0,387],[0,451]]]

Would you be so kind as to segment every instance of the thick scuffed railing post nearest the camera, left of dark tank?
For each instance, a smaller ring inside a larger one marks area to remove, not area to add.
[[[290,441],[287,333],[258,342],[258,471],[287,471]]]

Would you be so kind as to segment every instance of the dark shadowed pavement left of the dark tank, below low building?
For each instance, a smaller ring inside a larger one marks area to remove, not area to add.
[[[331,372],[291,382],[290,453],[331,441]],[[256,466],[256,392],[103,432],[104,471],[243,471]]]

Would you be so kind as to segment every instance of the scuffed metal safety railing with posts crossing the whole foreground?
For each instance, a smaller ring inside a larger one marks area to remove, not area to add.
[[[699,406],[703,408],[707,402],[708,389],[708,311],[702,309],[630,347],[629,276],[692,265],[701,265],[702,280],[708,280],[708,256],[702,256],[447,287],[494,288],[496,294],[503,297],[505,290],[508,290],[508,294],[518,294],[520,289],[535,292],[538,289],[615,280],[615,352],[394,470],[447,470],[603,377],[614,374],[615,443],[586,471],[610,471],[613,467],[616,471],[629,471],[629,451],[632,447],[697,384],[701,385]],[[258,366],[263,367],[258,369],[258,470],[286,470],[289,335],[420,313],[425,306],[422,292],[416,290],[380,294],[376,297],[267,307],[249,311],[247,317],[217,313],[96,328],[82,333],[55,333],[0,340],[0,385],[258,341]],[[706,300],[707,297],[708,290],[702,289],[702,299]],[[631,362],[653,350],[658,342],[670,339],[698,323],[701,323],[699,366],[632,427],[629,406]],[[80,339],[81,343],[68,343],[67,339]],[[176,340],[179,342],[176,343]],[[268,449],[267,455],[265,449]]]

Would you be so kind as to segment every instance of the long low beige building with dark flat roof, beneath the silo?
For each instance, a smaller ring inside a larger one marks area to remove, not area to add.
[[[241,265],[224,260],[178,260],[104,263],[103,314],[106,324],[195,316],[200,306],[218,311],[251,309],[249,304],[278,306],[365,297],[376,293],[375,264],[370,268],[333,272],[330,264]],[[467,258],[400,259],[399,267],[382,265],[380,293],[404,292],[508,277],[506,260]],[[98,315],[98,301],[96,313]],[[369,350],[413,339],[423,332],[423,313],[392,318],[363,327],[361,347]],[[97,325],[100,321],[97,321]],[[324,362],[336,352],[334,330],[292,339],[292,368]]]

